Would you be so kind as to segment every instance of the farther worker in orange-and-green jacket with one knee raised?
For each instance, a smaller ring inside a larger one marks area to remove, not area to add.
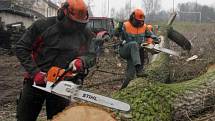
[[[135,76],[144,76],[144,49],[140,46],[143,43],[159,43],[157,36],[148,30],[143,10],[135,9],[128,21],[123,23],[122,44],[119,54],[127,61],[126,78],[121,89],[127,87]],[[150,39],[149,39],[150,38]]]

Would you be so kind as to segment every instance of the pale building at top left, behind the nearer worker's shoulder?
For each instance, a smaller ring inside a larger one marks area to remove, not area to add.
[[[58,8],[50,0],[0,0],[0,18],[5,24],[23,22],[28,27],[36,19],[56,16]]]

